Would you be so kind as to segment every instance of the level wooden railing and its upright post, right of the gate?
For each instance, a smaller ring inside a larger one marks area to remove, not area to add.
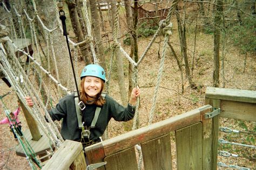
[[[212,166],[217,168],[220,117],[256,121],[256,91],[207,87],[205,104],[220,108],[220,115],[212,118]]]

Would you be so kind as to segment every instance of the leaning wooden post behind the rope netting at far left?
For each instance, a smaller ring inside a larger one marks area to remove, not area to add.
[[[18,95],[17,95],[18,97]],[[21,99],[18,97],[18,101],[21,104],[21,108],[23,110],[24,116],[26,118],[26,122],[28,123],[29,130],[32,135],[32,139],[38,141],[42,136],[38,129],[35,119],[30,115],[29,111],[26,109],[24,104],[22,103]]]

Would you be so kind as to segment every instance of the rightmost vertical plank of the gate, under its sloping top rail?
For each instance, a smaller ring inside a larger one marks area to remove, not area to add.
[[[176,131],[178,169],[202,169],[202,123]]]

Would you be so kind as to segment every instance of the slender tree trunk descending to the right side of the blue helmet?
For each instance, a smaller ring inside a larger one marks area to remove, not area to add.
[[[95,38],[97,56],[98,56],[100,65],[106,70],[104,47],[102,45],[102,40],[101,40],[102,37],[100,34],[100,21],[99,21],[96,1],[90,1],[90,8],[91,8],[91,18],[92,18],[91,20],[92,31],[93,31],[93,37]]]

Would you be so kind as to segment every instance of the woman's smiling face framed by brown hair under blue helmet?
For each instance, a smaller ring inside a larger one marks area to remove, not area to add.
[[[84,81],[84,91],[89,97],[97,97],[102,89],[102,81],[98,77],[86,76]]]

